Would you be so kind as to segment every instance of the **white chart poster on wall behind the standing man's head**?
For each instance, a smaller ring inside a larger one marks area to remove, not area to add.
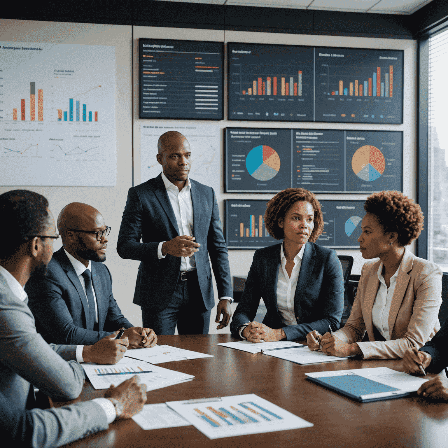
[[[181,124],[178,121],[155,121],[140,125],[140,181],[146,182],[162,172],[157,162],[157,141],[168,131],[177,131],[190,143],[189,177],[220,192],[220,131],[219,126]]]

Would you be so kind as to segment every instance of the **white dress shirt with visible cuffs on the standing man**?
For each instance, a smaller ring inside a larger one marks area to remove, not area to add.
[[[165,188],[167,190],[169,201],[171,202],[174,216],[176,217],[177,228],[181,235],[193,236],[193,202],[191,200],[191,182],[187,177],[184,188],[179,191],[176,185],[174,185],[165,173],[162,171],[162,180],[164,181]],[[160,241],[157,247],[157,257],[159,259],[165,258],[166,255],[162,254],[162,245],[165,241]],[[201,250],[199,248],[199,250]],[[194,254],[191,257],[181,257],[181,272],[196,271],[196,261]],[[233,302],[232,297],[220,297],[220,300],[229,300]]]

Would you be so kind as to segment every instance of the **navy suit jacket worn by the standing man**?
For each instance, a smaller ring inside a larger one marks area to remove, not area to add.
[[[207,310],[215,305],[209,255],[219,297],[233,297],[227,246],[221,228],[220,212],[211,187],[190,179],[193,203],[193,236],[201,244],[194,253],[202,301]],[[181,257],[167,254],[159,260],[160,241],[180,235],[162,173],[128,192],[117,252],[121,258],[140,260],[134,303],[155,312],[170,302],[181,270]],[[142,238],[143,242],[140,242]],[[199,297],[199,300],[201,298]]]

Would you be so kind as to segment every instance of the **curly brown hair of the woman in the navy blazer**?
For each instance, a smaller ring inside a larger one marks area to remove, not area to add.
[[[284,218],[291,206],[297,201],[310,202],[314,210],[314,229],[309,241],[317,241],[323,231],[323,216],[320,202],[314,193],[304,188],[287,188],[276,194],[268,203],[264,214],[264,224],[271,237],[276,240],[284,238],[283,229],[279,227],[278,220]]]

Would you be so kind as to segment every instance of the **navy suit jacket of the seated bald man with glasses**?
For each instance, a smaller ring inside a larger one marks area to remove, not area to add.
[[[53,254],[47,276],[26,283],[28,306],[36,329],[48,343],[93,345],[121,327],[130,328],[112,294],[112,276],[103,263],[91,262],[92,285],[98,306],[99,331],[89,327],[89,304],[64,248]]]

